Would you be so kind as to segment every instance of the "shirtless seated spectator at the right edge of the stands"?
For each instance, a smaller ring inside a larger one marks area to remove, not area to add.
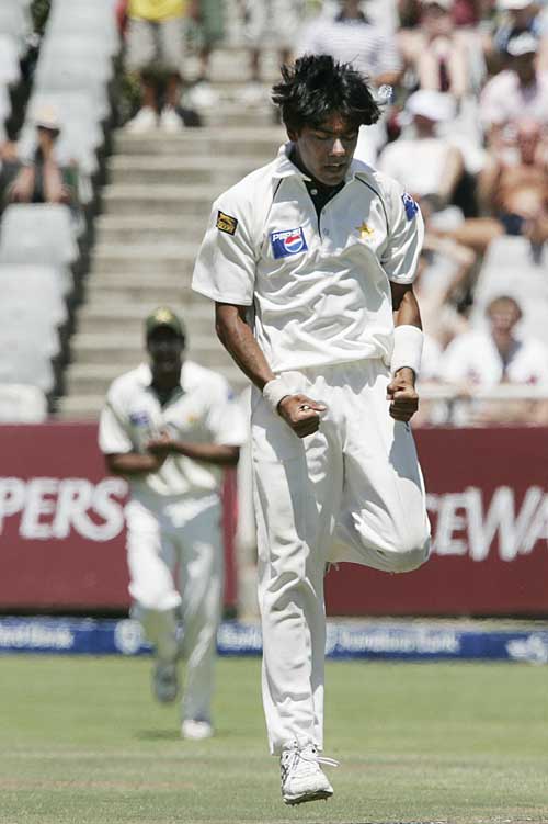
[[[484,255],[500,235],[522,235],[532,244],[548,239],[548,139],[535,121],[518,123],[514,151],[492,151],[478,179],[483,217],[452,230],[460,244]]]

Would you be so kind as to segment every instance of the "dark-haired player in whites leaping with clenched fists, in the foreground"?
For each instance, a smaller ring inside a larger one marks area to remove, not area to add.
[[[319,755],[326,564],[414,569],[430,528],[408,424],[422,218],[396,181],[353,161],[359,126],[379,116],[363,77],[326,55],[282,74],[289,143],[214,203],[193,287],[253,383],[263,703],[295,804],[333,792]]]

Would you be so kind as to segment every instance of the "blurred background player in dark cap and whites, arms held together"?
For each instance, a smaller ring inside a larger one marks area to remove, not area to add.
[[[129,594],[133,614],[155,645],[155,695],[175,700],[182,654],[187,667],[181,733],[205,738],[213,734],[224,580],[222,467],[238,462],[247,426],[225,379],[183,361],[184,329],[171,309],[147,318],[146,337],[151,364],[114,381],[99,443],[109,471],[129,483]]]

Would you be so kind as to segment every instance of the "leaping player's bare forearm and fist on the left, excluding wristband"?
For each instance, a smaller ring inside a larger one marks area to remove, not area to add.
[[[230,303],[216,303],[215,328],[227,352],[262,392],[265,384],[275,379],[275,374],[246,319],[247,308]],[[277,406],[278,414],[299,438],[316,432],[320,425],[319,413],[324,408],[322,404],[301,394],[286,395]]]

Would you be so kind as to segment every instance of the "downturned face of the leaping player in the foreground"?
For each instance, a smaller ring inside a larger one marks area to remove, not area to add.
[[[342,183],[356,148],[356,126],[334,114],[319,126],[302,126],[288,134],[312,178],[328,187]]]

